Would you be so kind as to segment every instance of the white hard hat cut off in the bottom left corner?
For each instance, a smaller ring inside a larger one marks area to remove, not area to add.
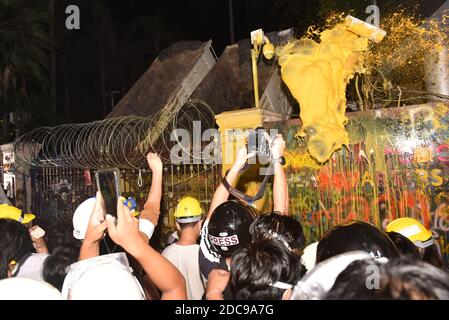
[[[0,300],[63,300],[63,297],[48,283],[27,278],[8,278],[0,281]]]

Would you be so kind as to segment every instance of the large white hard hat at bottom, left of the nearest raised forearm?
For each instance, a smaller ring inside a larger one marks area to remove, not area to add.
[[[113,253],[70,266],[62,294],[69,300],[144,300],[126,254]]]

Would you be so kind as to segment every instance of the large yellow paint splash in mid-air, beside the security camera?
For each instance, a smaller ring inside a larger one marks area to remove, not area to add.
[[[355,73],[365,72],[364,50],[375,31],[346,20],[321,32],[319,43],[302,38],[277,50],[282,79],[300,104],[298,134],[308,136],[308,151],[320,163],[349,144],[346,85]]]

